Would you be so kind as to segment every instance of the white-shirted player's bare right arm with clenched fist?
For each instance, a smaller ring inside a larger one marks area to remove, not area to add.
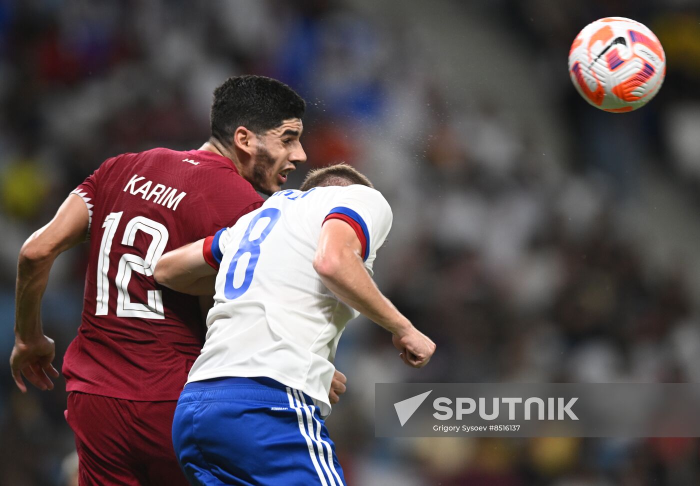
[[[425,366],[435,343],[420,333],[386,298],[367,273],[360,241],[350,225],[331,219],[323,224],[314,256],[314,270],[344,303],[394,335],[394,345],[410,366]]]

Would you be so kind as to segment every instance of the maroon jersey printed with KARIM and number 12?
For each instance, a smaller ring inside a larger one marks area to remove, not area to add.
[[[66,352],[68,391],[177,400],[200,354],[199,300],[153,280],[165,252],[260,207],[232,162],[154,148],[106,160],[73,191],[90,211],[83,318]]]

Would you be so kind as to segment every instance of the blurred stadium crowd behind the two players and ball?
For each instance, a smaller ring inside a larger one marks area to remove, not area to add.
[[[574,5],[575,4],[575,5]],[[659,37],[640,111],[589,106],[566,71],[587,23]],[[700,380],[700,6],[692,0],[0,0],[0,356],[23,240],[102,160],[207,139],[211,90],[264,74],[309,104],[307,168],[346,160],[391,202],[376,265],[437,342],[405,367],[351,323],[328,427],[351,485],[696,485],[695,439],[373,437],[374,382]],[[80,320],[84,249],[57,261],[45,333]],[[68,484],[64,382],[0,373],[0,485]]]

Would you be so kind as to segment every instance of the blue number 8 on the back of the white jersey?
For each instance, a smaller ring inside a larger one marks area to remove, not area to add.
[[[258,258],[260,257],[260,244],[265,241],[265,238],[267,238],[269,232],[272,231],[274,225],[277,224],[281,214],[282,213],[279,209],[269,207],[267,209],[263,209],[258,214],[253,216],[251,222],[248,223],[248,228],[246,228],[246,232],[239,243],[238,251],[236,251],[230,265],[228,265],[228,270],[226,271],[226,281],[224,283],[223,293],[229,300],[239,298],[246,293],[248,287],[251,286],[251,282],[253,282],[253,272],[255,272],[255,265],[258,265]],[[267,221],[265,228],[262,228],[260,236],[251,240],[251,232],[253,231],[253,228],[255,228],[255,224],[262,218],[269,218],[269,220]],[[240,284],[240,286],[236,287],[234,286],[233,279],[238,267],[238,262],[241,259],[241,256],[244,256],[245,254],[250,254],[251,258],[248,259],[248,265],[246,265],[246,274],[243,282]]]

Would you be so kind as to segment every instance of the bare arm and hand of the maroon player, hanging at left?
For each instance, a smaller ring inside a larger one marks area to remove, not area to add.
[[[38,389],[52,389],[50,377],[58,372],[52,366],[55,355],[53,340],[41,327],[41,298],[56,257],[85,241],[90,216],[85,202],[71,194],[59,207],[54,218],[34,232],[20,250],[15,291],[15,347],[10,368],[15,383],[27,391],[22,375]]]

